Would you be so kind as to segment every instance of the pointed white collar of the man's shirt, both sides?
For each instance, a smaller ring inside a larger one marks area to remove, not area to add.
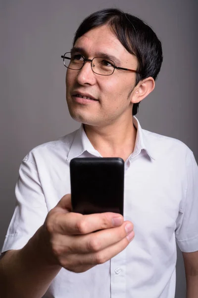
[[[147,135],[144,133],[138,119],[133,116],[133,123],[137,129],[135,148],[131,157],[135,157],[141,153],[142,150],[148,154],[151,159],[154,159],[152,149],[148,140]],[[76,131],[71,148],[68,152],[67,160],[80,156],[83,152],[89,152],[96,157],[102,157],[101,154],[93,147],[92,143],[88,139],[83,124]]]

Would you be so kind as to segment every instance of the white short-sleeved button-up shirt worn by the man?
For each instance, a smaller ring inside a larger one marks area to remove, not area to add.
[[[134,224],[134,240],[87,272],[61,269],[45,298],[174,298],[176,241],[184,252],[198,250],[198,166],[182,142],[143,130],[135,117],[134,125],[136,145],[124,177],[124,219]],[[27,243],[70,193],[70,160],[89,156],[102,157],[81,126],[23,159],[2,252]]]

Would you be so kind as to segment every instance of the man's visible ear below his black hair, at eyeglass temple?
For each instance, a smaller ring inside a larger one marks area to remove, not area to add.
[[[141,80],[132,93],[131,102],[138,103],[142,101],[150,92],[152,92],[154,87],[155,81],[153,77],[149,76]]]

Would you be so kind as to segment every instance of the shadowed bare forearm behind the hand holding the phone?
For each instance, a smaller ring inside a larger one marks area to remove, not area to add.
[[[0,297],[41,298],[46,293],[61,267],[49,264],[41,237],[42,227],[24,248],[0,259]]]

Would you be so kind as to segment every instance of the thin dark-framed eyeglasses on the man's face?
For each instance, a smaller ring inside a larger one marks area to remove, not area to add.
[[[82,54],[79,54],[77,52],[67,52],[63,56],[61,56],[61,58],[63,58],[64,66],[74,71],[81,70],[86,62],[91,62],[91,68],[95,74],[111,75],[114,73],[115,69],[140,74],[135,70],[115,66],[112,60],[102,57],[85,59],[85,57]]]

